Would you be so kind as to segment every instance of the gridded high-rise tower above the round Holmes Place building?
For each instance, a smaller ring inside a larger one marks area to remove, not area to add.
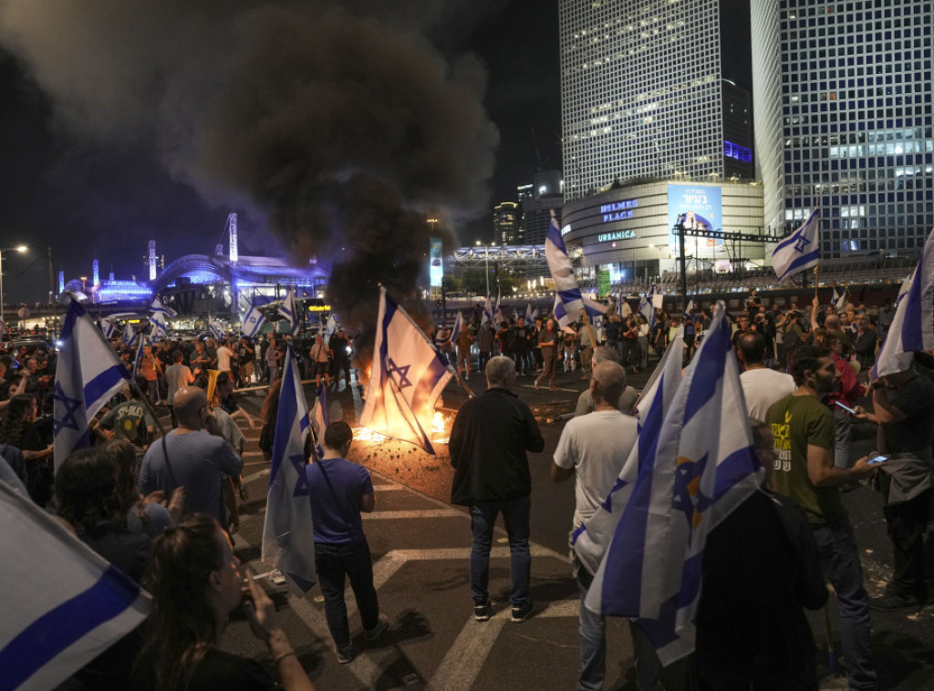
[[[559,13],[567,201],[615,180],[716,182],[736,175],[728,160],[752,162],[751,141],[725,136],[724,92],[738,87],[722,78],[719,0],[561,0]]]

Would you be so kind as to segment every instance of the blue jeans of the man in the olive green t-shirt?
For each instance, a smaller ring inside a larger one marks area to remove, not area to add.
[[[870,642],[870,601],[849,521],[812,526],[820,565],[840,604],[840,644],[851,689],[877,689]]]

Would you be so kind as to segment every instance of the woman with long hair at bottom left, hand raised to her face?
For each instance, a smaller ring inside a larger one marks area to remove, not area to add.
[[[276,688],[258,663],[218,648],[230,613],[242,603],[250,630],[269,648],[282,686],[313,691],[276,623],[272,600],[249,577],[244,599],[239,563],[218,522],[203,514],[191,515],[153,543],[144,580],[152,594],[152,613],[134,668],[135,688]]]

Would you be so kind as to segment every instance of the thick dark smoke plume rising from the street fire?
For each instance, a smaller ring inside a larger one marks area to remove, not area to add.
[[[415,291],[428,215],[449,249],[443,229],[485,209],[499,139],[483,67],[426,37],[475,6],[396,5],[0,0],[0,42],[69,134],[149,148],[209,204],[266,219],[295,261],[330,262],[329,297],[359,325],[377,283]]]

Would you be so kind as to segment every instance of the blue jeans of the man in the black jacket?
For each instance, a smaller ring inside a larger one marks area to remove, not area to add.
[[[531,553],[529,552],[529,515],[531,499],[502,501],[474,501],[470,507],[470,525],[474,543],[470,553],[470,589],[474,602],[486,603],[489,599],[489,550],[493,543],[493,526],[496,515],[502,512],[509,536],[511,556],[509,573],[512,579],[512,594],[509,601],[514,607],[524,606],[529,601],[529,578]]]

